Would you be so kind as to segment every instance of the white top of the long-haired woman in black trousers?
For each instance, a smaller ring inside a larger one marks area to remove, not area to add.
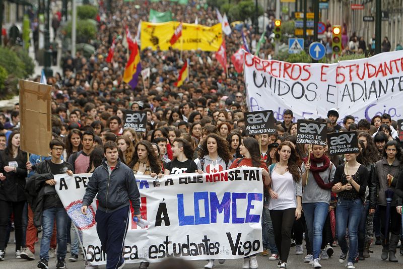
[[[297,207],[294,179],[289,171],[284,175],[280,175],[276,170],[273,170],[272,189],[279,197],[277,199],[270,199],[269,210],[284,210]]]

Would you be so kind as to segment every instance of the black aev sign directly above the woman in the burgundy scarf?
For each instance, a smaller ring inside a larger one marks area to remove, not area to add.
[[[299,119],[297,124],[297,143],[321,146],[326,145],[326,122]]]

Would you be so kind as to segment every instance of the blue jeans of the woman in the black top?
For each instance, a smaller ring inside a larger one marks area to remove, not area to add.
[[[362,211],[364,210],[362,200],[348,200],[339,197],[336,208],[337,237],[343,253],[349,252],[348,262],[355,262],[358,248],[358,225]],[[347,223],[349,228],[350,250],[346,240]]]

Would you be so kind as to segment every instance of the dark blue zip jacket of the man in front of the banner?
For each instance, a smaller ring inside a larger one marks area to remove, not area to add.
[[[130,205],[130,200],[135,214],[140,214],[140,192],[133,171],[120,162],[120,159],[110,174],[108,169],[104,158],[102,165],[94,170],[88,181],[83,206],[91,205],[98,193],[98,210],[110,213]]]

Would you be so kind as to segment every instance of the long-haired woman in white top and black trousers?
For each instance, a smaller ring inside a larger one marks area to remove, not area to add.
[[[272,199],[268,209],[280,254],[279,265],[285,269],[290,253],[291,230],[294,221],[302,215],[302,173],[300,158],[291,142],[280,144],[276,160],[277,163],[269,167],[272,185],[269,186],[268,192]]]

